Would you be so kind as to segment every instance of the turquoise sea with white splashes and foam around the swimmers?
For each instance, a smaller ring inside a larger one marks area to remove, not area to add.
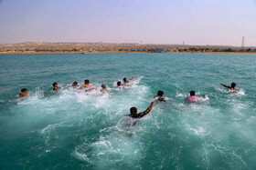
[[[255,169],[255,65],[256,55],[0,55],[0,169]],[[69,88],[84,79],[110,94]],[[219,85],[231,82],[239,92]],[[127,126],[130,107],[144,111],[158,90],[169,100]],[[184,103],[191,90],[209,100]]]

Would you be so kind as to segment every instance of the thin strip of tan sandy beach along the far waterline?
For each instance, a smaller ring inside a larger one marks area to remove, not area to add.
[[[110,54],[110,53],[148,53],[149,52],[118,52],[118,51],[94,51],[94,52],[0,52],[0,55],[51,55],[51,54]],[[161,53],[153,53],[161,54]],[[216,55],[256,55],[255,52],[165,52],[162,54],[216,54]]]

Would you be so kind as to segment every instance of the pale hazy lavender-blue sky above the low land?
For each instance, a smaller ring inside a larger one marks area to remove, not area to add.
[[[256,0],[0,0],[0,43],[256,46]]]

